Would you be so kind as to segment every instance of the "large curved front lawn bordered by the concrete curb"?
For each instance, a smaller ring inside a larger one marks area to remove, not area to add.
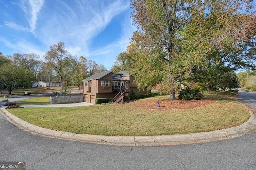
[[[207,95],[206,98],[216,99],[216,102],[180,111],[139,109],[127,104],[19,108],[8,111],[25,121],[48,129],[78,134],[120,136],[214,131],[241,125],[250,117],[250,113],[230,96]]]

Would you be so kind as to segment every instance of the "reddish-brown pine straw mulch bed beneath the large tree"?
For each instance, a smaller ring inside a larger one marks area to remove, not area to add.
[[[160,107],[157,103],[160,102]],[[195,107],[205,106],[207,104],[215,103],[215,100],[201,99],[201,100],[140,100],[136,102],[127,103],[128,106],[139,107],[141,109],[157,109],[157,110],[183,110]]]

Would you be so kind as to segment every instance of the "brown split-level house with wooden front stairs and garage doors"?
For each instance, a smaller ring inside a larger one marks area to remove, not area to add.
[[[146,90],[138,90],[134,77],[127,71],[100,72],[83,80],[84,102],[91,104],[95,104],[96,98],[113,98],[116,103],[126,102],[132,90],[136,94],[146,94]]]

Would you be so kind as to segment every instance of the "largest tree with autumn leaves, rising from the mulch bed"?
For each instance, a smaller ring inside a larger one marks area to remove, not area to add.
[[[130,44],[134,67],[130,72],[139,88],[158,84],[170,92],[170,100],[180,81],[202,68],[208,71],[209,61],[220,59],[227,68],[239,65],[226,64],[225,60],[239,61],[238,53],[228,51],[235,52],[240,42],[244,46],[247,35],[242,39],[239,35],[253,28],[253,24],[246,26],[246,20],[254,17],[253,4],[246,0],[132,0],[131,5],[138,31]],[[249,39],[252,35],[254,31],[248,33]],[[220,53],[225,54],[219,57]]]

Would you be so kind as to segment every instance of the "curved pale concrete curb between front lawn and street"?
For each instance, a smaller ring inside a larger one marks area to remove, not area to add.
[[[246,108],[246,107],[245,107]],[[247,108],[246,108],[247,109]],[[64,131],[56,131],[46,129],[28,123],[6,109],[1,108],[0,113],[10,123],[14,124],[19,129],[39,135],[42,137],[52,137],[58,139],[81,141],[88,143],[97,143],[104,145],[119,145],[119,146],[162,146],[162,145],[184,145],[193,143],[205,143],[213,141],[223,141],[240,137],[246,134],[256,132],[256,117],[250,112],[248,121],[237,127],[228,129],[216,130],[211,132],[190,133],[184,135],[161,135],[161,136],[101,136],[101,135],[83,135]]]

